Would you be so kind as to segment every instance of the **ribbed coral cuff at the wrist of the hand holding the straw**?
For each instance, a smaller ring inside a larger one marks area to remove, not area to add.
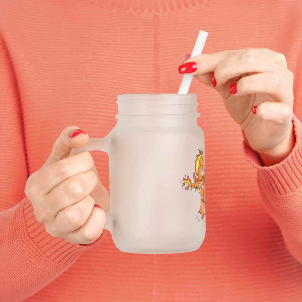
[[[244,137],[243,150],[247,160],[258,170],[258,184],[273,194],[290,194],[302,184],[302,124],[295,116],[293,124],[296,136],[294,149],[276,165],[263,167],[259,154]]]

